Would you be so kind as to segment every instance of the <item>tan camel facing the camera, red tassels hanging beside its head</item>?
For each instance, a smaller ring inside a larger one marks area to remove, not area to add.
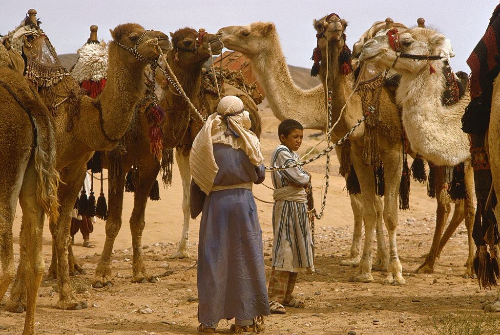
[[[352,74],[343,75],[340,72],[339,55],[345,45],[345,28],[347,24],[336,15],[325,16],[314,21],[314,28],[322,36],[318,39],[318,47],[321,50],[321,63],[319,75],[323,86],[331,91],[331,105],[333,122],[339,119],[337,126],[333,129],[332,139],[337,140],[352,128],[362,117],[362,103],[360,96],[352,93],[354,78]],[[319,36],[319,35],[317,35]],[[328,54],[326,51],[328,50]],[[327,62],[326,62],[327,61]],[[350,60],[349,60],[350,61]],[[326,67],[326,64],[329,67]],[[361,66],[361,71],[362,66]],[[326,81],[326,76],[328,80]],[[386,266],[388,272],[386,283],[404,284],[402,267],[397,255],[396,227],[398,210],[398,191],[402,170],[402,129],[396,105],[391,101],[392,93],[382,88],[379,96],[380,119],[378,146],[380,159],[383,164],[384,173],[384,207],[383,221],[389,236],[390,261]],[[343,115],[340,111],[346,105]],[[377,216],[375,211],[377,195],[375,193],[375,179],[373,167],[365,165],[363,161],[365,124],[363,123],[351,137],[351,159],[359,179],[361,187],[361,198],[363,204],[364,220],[364,247],[362,258],[359,263],[358,273],[351,278],[354,281],[369,282],[373,280],[371,270],[371,241],[373,229]]]

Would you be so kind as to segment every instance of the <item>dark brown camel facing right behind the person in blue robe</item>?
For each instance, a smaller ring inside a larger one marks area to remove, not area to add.
[[[171,34],[171,38],[173,49],[165,55],[163,61],[168,63],[191,103],[206,116],[213,112],[216,104],[206,101],[205,97],[200,94],[202,66],[209,59],[210,52],[212,54],[220,53],[222,44],[215,35],[208,34],[202,30],[196,32],[191,28],[179,29]],[[159,74],[157,76],[158,80],[164,78]],[[187,256],[185,253],[187,252],[187,233],[190,216],[188,211],[190,183],[189,152],[194,137],[201,129],[202,122],[195,115],[191,117],[188,104],[166,80],[162,82],[163,96],[160,100],[160,106],[166,112],[166,119],[162,124],[162,146],[163,148],[176,148],[176,160],[183,186],[183,236],[179,243],[179,250],[174,255],[182,258]],[[258,119],[258,115],[256,114],[256,106],[252,107],[249,104],[248,97],[246,99],[243,99],[246,102],[245,106],[253,114],[251,117],[252,125],[260,129],[260,119]],[[147,118],[145,116],[138,117],[124,135],[125,156],[119,159],[114,158],[115,162],[111,162],[113,159],[111,158],[111,154],[105,155],[104,161],[107,160],[105,164],[108,166],[109,176],[112,176],[109,179],[109,215],[106,221],[104,249],[95,270],[95,277],[92,279],[94,287],[103,287],[104,285],[112,284],[109,263],[114,238],[121,226],[121,208],[125,184],[124,172],[128,171],[132,165],[138,167],[138,172],[134,180],[134,207],[130,217],[130,231],[133,245],[133,275],[131,281],[154,282],[156,280],[145,269],[142,261],[140,242],[142,229],[145,224],[144,210],[147,195],[160,170],[159,161],[155,159],[153,154],[149,153],[148,128]],[[141,154],[138,155],[138,152]],[[114,154],[114,157],[117,157],[116,154]],[[185,221],[186,213],[187,222]]]

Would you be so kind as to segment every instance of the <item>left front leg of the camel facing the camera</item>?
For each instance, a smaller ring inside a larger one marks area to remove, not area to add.
[[[350,281],[371,282],[371,241],[373,240],[373,230],[376,222],[376,195],[375,180],[373,178],[373,169],[362,163],[362,147],[356,142],[351,142],[351,159],[354,169],[359,179],[361,187],[361,199],[363,206],[364,222],[364,245],[359,268],[357,273],[350,277]]]

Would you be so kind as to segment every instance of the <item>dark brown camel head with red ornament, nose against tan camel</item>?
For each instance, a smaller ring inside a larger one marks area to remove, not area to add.
[[[173,49],[171,53],[183,65],[204,63],[211,55],[219,55],[224,45],[220,39],[205,32],[204,29],[195,31],[192,28],[182,28],[170,33]]]

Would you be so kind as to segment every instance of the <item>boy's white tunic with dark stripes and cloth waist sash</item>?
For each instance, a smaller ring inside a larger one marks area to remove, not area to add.
[[[299,160],[286,146],[279,145],[271,155],[271,166],[286,165]],[[272,208],[272,266],[277,271],[314,271],[312,239],[309,230],[305,190],[309,176],[301,167],[271,173],[274,186]]]

